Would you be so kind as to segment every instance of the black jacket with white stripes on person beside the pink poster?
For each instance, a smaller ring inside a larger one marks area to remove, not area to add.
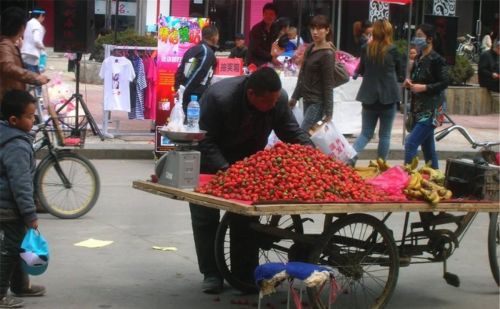
[[[191,58],[196,59],[196,65],[192,66],[190,72],[187,72],[188,76],[186,76],[184,69]],[[210,85],[216,65],[215,47],[208,45],[205,41],[201,41],[186,51],[182,57],[181,65],[175,73],[175,90],[177,91],[181,85],[186,87],[182,100],[184,112],[191,101],[191,95],[197,95],[199,100]]]

